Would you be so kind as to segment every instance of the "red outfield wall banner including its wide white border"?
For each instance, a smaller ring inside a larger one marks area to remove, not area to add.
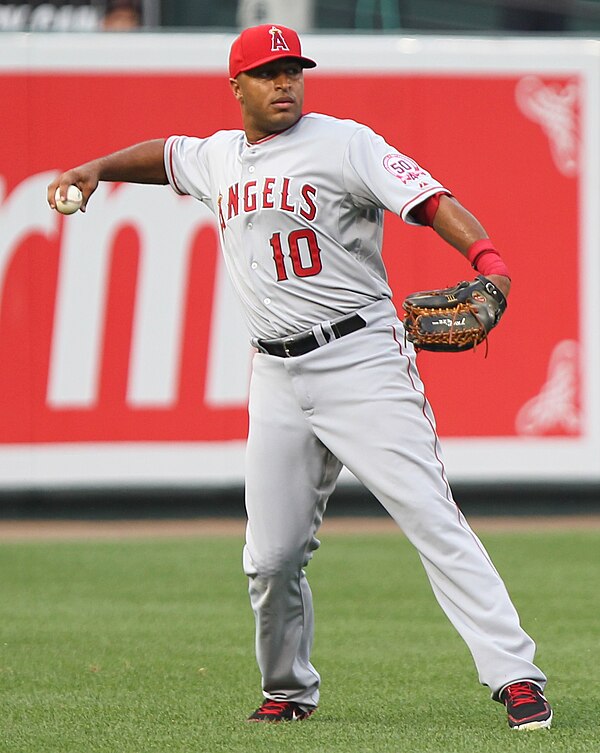
[[[248,335],[214,217],[53,175],[240,125],[227,34],[4,34],[0,492],[242,483]],[[600,482],[600,41],[306,35],[307,110],[371,125],[480,217],[514,278],[486,355],[419,356],[451,480]],[[388,217],[396,304],[471,275]]]

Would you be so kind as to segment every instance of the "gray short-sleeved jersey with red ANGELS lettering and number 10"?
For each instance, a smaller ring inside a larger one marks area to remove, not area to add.
[[[176,191],[216,214],[255,337],[389,298],[383,210],[412,222],[413,207],[445,191],[370,128],[317,114],[253,145],[243,131],[171,137],[165,165]]]

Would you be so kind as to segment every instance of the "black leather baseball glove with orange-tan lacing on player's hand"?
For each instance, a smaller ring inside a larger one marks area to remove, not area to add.
[[[479,275],[453,288],[412,293],[402,306],[406,336],[417,350],[456,353],[487,340],[506,309],[506,298]]]

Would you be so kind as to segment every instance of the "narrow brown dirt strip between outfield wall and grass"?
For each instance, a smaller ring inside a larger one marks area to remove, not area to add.
[[[536,532],[600,529],[600,515],[469,517],[475,531]],[[85,540],[125,538],[180,538],[244,536],[240,518],[193,518],[182,520],[0,520],[0,541]],[[323,535],[397,533],[386,517],[331,517],[321,528]]]

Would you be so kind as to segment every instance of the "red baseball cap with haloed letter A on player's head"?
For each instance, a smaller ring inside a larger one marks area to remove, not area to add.
[[[302,55],[300,39],[293,29],[274,24],[252,26],[245,29],[231,45],[229,75],[235,78],[238,73],[279,58],[295,58],[303,68],[317,65],[314,60]]]

